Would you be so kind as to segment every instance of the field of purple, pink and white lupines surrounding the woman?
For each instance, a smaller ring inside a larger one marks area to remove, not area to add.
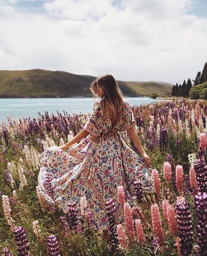
[[[207,105],[160,101],[132,106],[135,129],[151,158],[155,193],[135,182],[137,206],[117,188],[124,222],[106,202],[111,243],[93,225],[85,197],[62,213],[38,189],[39,153],[71,140],[89,115],[67,112],[0,126],[0,253],[11,255],[207,255]],[[126,132],[120,132],[135,152]],[[101,171],[101,170],[100,170]],[[47,189],[53,193],[50,176]],[[79,216],[82,216],[79,218]]]

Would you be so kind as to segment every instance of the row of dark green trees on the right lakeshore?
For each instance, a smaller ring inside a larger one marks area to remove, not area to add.
[[[187,83],[185,80],[183,81],[183,84],[176,83],[176,85],[173,85],[172,87],[172,96],[176,97],[191,97],[192,91],[194,91],[194,86],[203,84],[204,82],[207,82],[207,62],[205,62],[202,73],[199,71],[196,75],[196,78],[193,80],[193,85],[191,83],[191,79],[189,78]],[[203,86],[202,86],[203,87]],[[205,87],[205,85],[204,85]],[[205,87],[207,88],[207,87]],[[198,89],[198,88],[197,88]],[[190,91],[191,90],[191,91]],[[196,90],[198,91],[198,90]],[[196,96],[197,97],[197,96]]]

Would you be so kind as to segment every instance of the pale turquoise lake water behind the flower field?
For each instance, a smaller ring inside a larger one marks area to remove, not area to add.
[[[148,97],[137,97],[137,98],[124,98],[131,105],[148,104],[155,101]],[[45,111],[48,114],[59,113],[64,115],[68,112],[68,115],[72,114],[86,114],[91,112],[93,108],[93,98],[15,98],[15,99],[0,99],[0,125],[2,122],[8,124],[6,115],[11,116],[12,119],[23,117],[38,118],[38,111],[42,115]]]

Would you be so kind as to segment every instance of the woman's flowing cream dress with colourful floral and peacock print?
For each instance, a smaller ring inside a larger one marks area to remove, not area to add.
[[[132,108],[125,102],[126,114],[112,127],[103,100],[93,106],[91,116],[84,125],[90,134],[67,152],[51,146],[40,154],[42,165],[38,175],[38,187],[47,202],[57,203],[63,212],[67,204],[75,201],[80,213],[80,198],[86,197],[88,210],[93,214],[96,229],[107,229],[105,203],[111,197],[116,205],[116,221],[123,219],[123,211],[117,200],[117,187],[125,189],[125,200],[136,205],[133,181],[140,178],[145,192],[154,193],[152,169],[145,160],[127,146],[119,134],[132,127],[135,118]],[[52,177],[54,200],[47,193],[45,174]]]

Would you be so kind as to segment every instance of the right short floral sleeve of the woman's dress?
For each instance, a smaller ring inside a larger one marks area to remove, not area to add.
[[[122,116],[119,131],[125,131],[128,128],[131,128],[136,122],[132,111],[132,107],[128,102],[125,103],[125,110],[126,113],[124,113],[124,115]]]

